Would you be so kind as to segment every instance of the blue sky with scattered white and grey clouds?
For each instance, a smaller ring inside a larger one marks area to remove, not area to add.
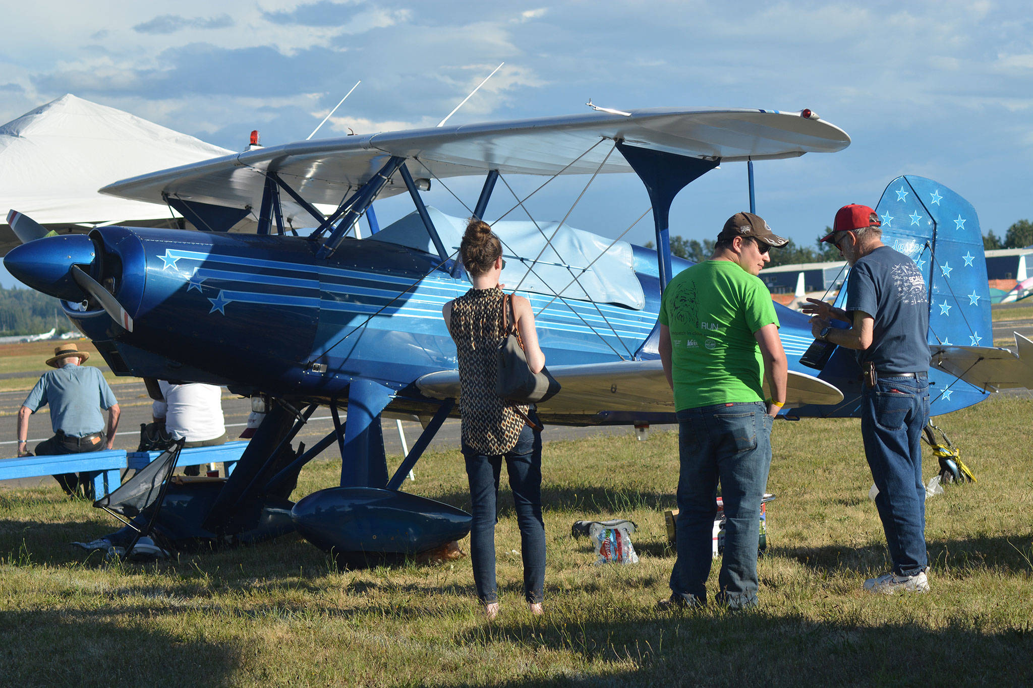
[[[1033,217],[1028,2],[48,2],[5,8],[5,24],[0,122],[73,93],[241,150],[252,129],[265,144],[305,138],[359,78],[317,137],[433,126],[505,61],[450,123],[580,112],[592,98],[810,107],[842,127],[844,152],[756,165],[758,214],[797,242],[903,173],[968,198],[983,232]],[[532,212],[562,218],[586,182],[550,185]],[[449,187],[472,204],[479,182]],[[511,204],[503,193],[490,218]],[[442,189],[429,202],[464,214]],[[636,178],[611,175],[569,222],[616,236],[648,204]],[[671,231],[713,237],[747,206],[746,167],[726,164],[682,192]],[[626,238],[652,233],[647,217]]]

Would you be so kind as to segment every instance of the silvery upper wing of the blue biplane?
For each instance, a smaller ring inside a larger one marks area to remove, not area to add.
[[[630,116],[588,112],[564,117],[299,141],[174,167],[108,185],[101,193],[163,203],[163,195],[244,208],[258,207],[265,171],[275,171],[310,203],[337,206],[389,156],[414,158],[414,176],[630,172],[600,139],[724,161],[792,158],[840,151],[850,137],[838,127],[797,112],[758,109],[633,110]],[[581,156],[581,158],[578,158]],[[605,164],[600,168],[603,160]],[[381,197],[405,191],[393,179]],[[283,199],[285,202],[286,198]]]

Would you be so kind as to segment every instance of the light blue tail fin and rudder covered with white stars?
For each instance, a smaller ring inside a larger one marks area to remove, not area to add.
[[[942,184],[906,174],[889,183],[875,211],[882,242],[914,260],[926,281],[930,345],[993,347],[987,259],[972,204]],[[844,289],[836,302],[845,300]],[[933,416],[987,395],[937,368],[929,378]]]

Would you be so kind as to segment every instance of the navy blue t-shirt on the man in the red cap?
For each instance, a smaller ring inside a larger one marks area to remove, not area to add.
[[[875,319],[872,346],[857,352],[857,362],[880,372],[929,369],[929,294],[914,261],[889,247],[879,247],[850,269],[846,309]]]

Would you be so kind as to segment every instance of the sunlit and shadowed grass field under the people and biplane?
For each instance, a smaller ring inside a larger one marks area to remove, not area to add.
[[[776,423],[761,607],[743,614],[654,611],[674,563],[663,523],[677,476],[670,433],[546,444],[541,619],[522,603],[506,489],[494,622],[480,615],[466,558],[341,570],[285,536],[108,563],[67,545],[115,528],[98,510],[57,489],[0,490],[0,684],[1029,685],[1031,415],[1033,401],[1003,397],[938,419],[978,482],[929,500],[933,592],[894,597],[859,590],[887,560],[858,423]],[[310,464],[294,497],[338,471]],[[427,455],[416,472],[407,490],[469,506],[458,452]],[[641,561],[595,566],[570,525],[618,516],[638,523]],[[717,566],[712,592],[716,577]]]

